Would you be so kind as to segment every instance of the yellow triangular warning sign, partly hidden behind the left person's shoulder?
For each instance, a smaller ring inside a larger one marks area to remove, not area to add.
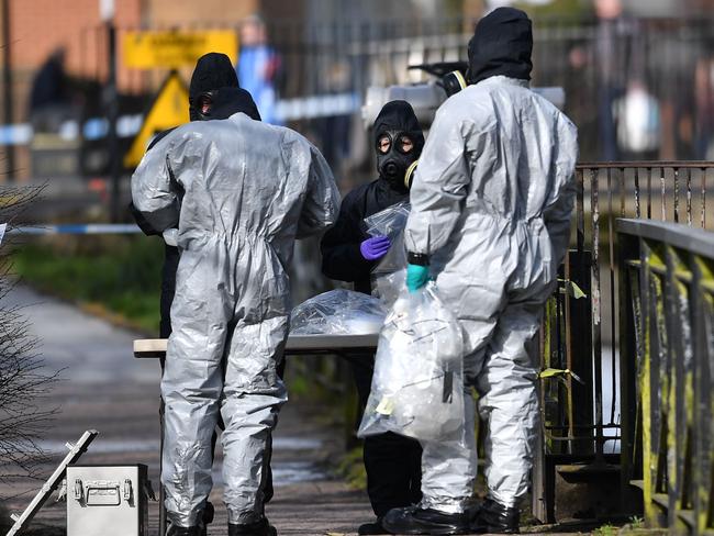
[[[189,91],[178,72],[171,72],[161,85],[152,108],[144,118],[142,129],[124,156],[124,166],[134,167],[142,161],[154,134],[188,121]]]

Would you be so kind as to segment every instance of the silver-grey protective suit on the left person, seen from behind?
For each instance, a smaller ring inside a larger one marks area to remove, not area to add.
[[[286,267],[295,237],[335,222],[334,178],[301,135],[236,113],[167,135],[136,169],[132,197],[155,228],[178,227],[181,252],[161,381],[169,521],[197,524],[220,411],[228,521],[252,523],[287,400],[276,373],[291,310]]]

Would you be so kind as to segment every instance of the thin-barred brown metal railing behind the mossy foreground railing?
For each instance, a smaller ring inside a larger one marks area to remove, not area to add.
[[[542,367],[549,373],[540,380],[543,448],[533,506],[548,522],[555,521],[556,466],[584,466],[599,478],[620,471],[625,417],[616,219],[714,226],[714,204],[707,203],[714,161],[583,163],[576,174],[574,247],[546,305],[540,337]]]

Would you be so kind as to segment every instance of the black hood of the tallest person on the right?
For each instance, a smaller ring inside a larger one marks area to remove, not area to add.
[[[499,8],[476,25],[469,41],[469,83],[492,76],[531,79],[533,30],[531,19],[514,8]]]

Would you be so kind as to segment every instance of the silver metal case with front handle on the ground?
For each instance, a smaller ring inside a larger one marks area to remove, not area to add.
[[[67,536],[145,536],[146,466],[76,465],[67,468]]]

